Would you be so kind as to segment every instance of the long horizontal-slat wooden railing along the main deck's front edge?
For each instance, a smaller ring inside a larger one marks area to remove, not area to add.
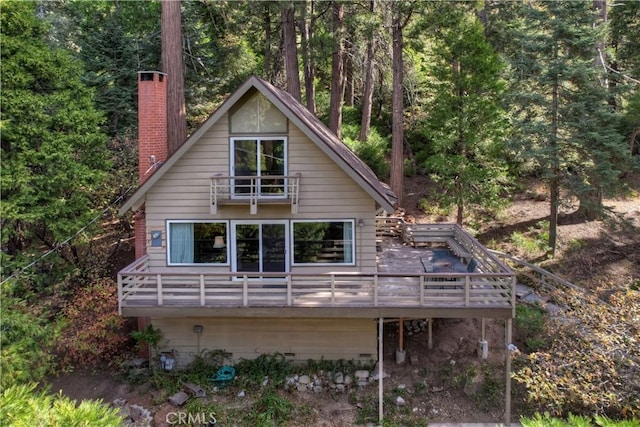
[[[152,272],[118,274],[119,309],[149,307],[515,307],[510,273]]]

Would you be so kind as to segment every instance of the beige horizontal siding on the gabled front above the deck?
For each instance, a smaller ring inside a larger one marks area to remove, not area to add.
[[[375,271],[375,201],[342,171],[299,129],[290,124],[288,173],[301,174],[297,214],[288,205],[259,205],[251,215],[249,206],[221,206],[217,215],[209,213],[210,178],[229,174],[228,116],[222,117],[180,158],[146,195],[147,229],[163,231],[167,219],[363,219],[356,226],[356,267],[333,266],[331,270]],[[150,266],[166,267],[166,243],[148,248]],[[171,267],[178,268],[178,267]],[[216,267],[216,269],[229,267]],[[190,271],[211,267],[190,268]],[[323,267],[296,267],[294,271],[321,271]]]

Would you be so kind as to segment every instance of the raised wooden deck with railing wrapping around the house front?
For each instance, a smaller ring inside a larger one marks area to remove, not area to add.
[[[513,316],[515,276],[479,244],[464,246],[463,255],[479,262],[478,269],[471,273],[451,268],[438,271],[437,267],[425,271],[433,247],[407,245],[398,238],[382,238],[379,246],[375,273],[175,273],[150,271],[147,259],[141,258],[118,274],[120,313]],[[466,265],[466,257],[459,259]]]

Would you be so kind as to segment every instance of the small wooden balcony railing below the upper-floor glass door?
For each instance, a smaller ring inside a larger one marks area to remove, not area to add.
[[[252,215],[258,212],[258,204],[290,204],[295,214],[299,195],[300,174],[211,177],[212,214],[223,204],[247,204]]]

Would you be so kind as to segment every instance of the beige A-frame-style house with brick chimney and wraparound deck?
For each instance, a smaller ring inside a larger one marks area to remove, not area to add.
[[[288,93],[249,78],[167,157],[165,83],[139,73],[140,186],[120,210],[136,212],[136,261],[118,294],[178,366],[204,349],[375,360],[379,319],[510,325],[513,273],[455,225],[425,241],[462,270],[438,269],[429,247],[424,269],[379,269],[376,214],[395,196]]]

